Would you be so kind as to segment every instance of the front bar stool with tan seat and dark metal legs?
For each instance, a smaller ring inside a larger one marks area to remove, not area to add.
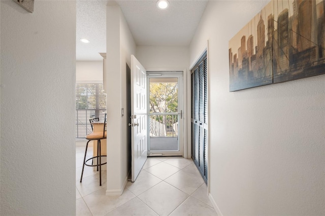
[[[100,170],[100,186],[102,186],[102,165],[106,164],[106,162],[102,163],[102,157],[106,157],[106,155],[102,155],[101,140],[106,139],[106,134],[107,134],[107,132],[106,132],[106,115],[107,114],[105,113],[103,132],[92,132],[91,134],[88,134],[86,136],[86,139],[88,140],[88,142],[86,144],[85,157],[83,159],[80,182],[82,182],[82,175],[83,175],[83,170],[84,170],[85,165],[86,166],[97,166],[97,171]],[[90,141],[94,141],[94,140],[97,140],[97,155],[86,160],[88,143]],[[95,164],[95,165],[87,164],[87,162],[89,160],[93,160],[95,158],[97,159],[97,164]]]

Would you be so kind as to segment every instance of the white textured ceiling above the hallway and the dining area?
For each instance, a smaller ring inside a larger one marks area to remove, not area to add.
[[[101,60],[106,52],[106,5],[109,1],[77,1],[77,60]],[[207,1],[171,0],[159,10],[155,0],[116,1],[137,46],[188,46]],[[90,40],[83,44],[80,38]]]

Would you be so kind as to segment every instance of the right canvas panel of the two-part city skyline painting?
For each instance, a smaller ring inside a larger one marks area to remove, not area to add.
[[[324,8],[323,0],[274,2],[274,83],[325,73]]]

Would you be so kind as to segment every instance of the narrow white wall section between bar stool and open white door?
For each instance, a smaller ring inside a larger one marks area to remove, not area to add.
[[[119,6],[107,6],[107,195],[120,195],[127,182],[129,146],[125,132],[129,116],[126,109],[126,63],[136,45]]]

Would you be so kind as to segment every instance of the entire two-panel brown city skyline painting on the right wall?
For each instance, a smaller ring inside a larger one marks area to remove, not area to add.
[[[324,74],[324,9],[271,1],[229,41],[230,92]]]

